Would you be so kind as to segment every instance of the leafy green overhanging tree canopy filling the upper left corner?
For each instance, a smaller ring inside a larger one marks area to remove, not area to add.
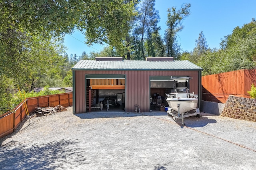
[[[85,33],[87,43],[118,46],[135,15],[134,3],[122,0],[7,0],[0,2],[0,12],[0,74],[20,80],[23,77],[17,73],[30,63],[24,55],[30,50],[30,37],[50,41],[72,33],[76,26]]]

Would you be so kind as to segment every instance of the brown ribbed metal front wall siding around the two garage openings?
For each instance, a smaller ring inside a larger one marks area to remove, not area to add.
[[[126,75],[126,112],[134,112],[134,105],[140,106],[142,112],[150,111],[149,77],[150,76],[192,76],[190,80],[190,91],[198,94],[198,71],[116,71],[99,70],[83,71],[76,70],[76,113],[86,112],[85,103],[85,74],[125,74]]]

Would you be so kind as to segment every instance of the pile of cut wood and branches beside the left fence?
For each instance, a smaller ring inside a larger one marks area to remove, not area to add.
[[[37,107],[37,109],[33,112],[33,115],[31,115],[30,117],[37,116],[37,115],[46,116],[46,115],[51,115],[52,113],[57,113],[57,112],[66,111],[66,110],[67,108],[61,105],[57,105],[55,107]]]

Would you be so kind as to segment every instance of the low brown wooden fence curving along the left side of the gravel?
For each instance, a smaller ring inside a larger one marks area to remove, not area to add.
[[[36,107],[53,107],[59,104],[64,107],[72,106],[72,93],[27,98],[26,104],[28,106],[29,113],[34,111]],[[26,111],[23,102],[15,107],[13,111],[9,111],[3,115],[0,115],[0,138],[14,132],[25,117]]]

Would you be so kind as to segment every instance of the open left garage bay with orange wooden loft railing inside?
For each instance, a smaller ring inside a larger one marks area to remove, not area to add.
[[[125,110],[124,78],[86,79],[86,106],[88,111]]]

